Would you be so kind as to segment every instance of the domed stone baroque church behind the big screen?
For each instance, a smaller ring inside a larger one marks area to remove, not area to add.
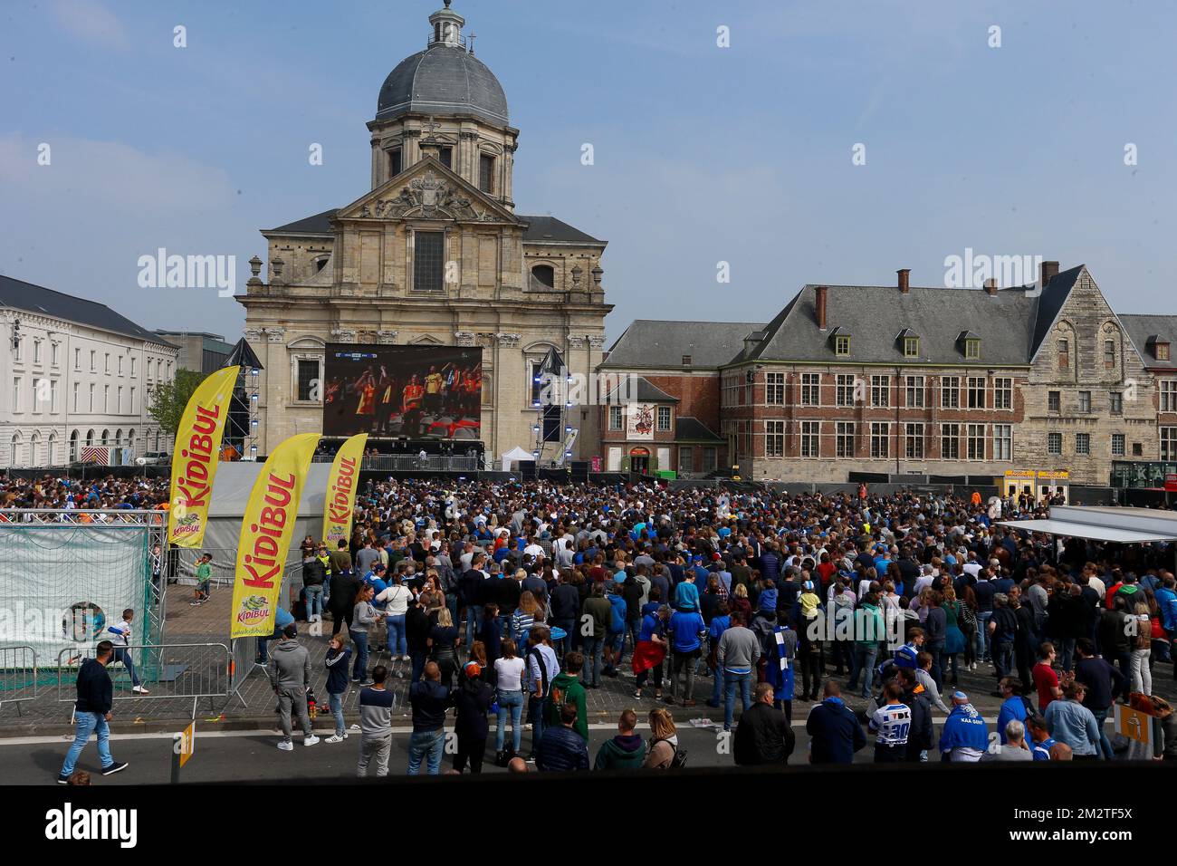
[[[371,190],[350,204],[262,231],[268,263],[238,300],[264,364],[259,454],[322,430],[328,344],[480,346],[488,456],[537,444],[537,370],[554,350],[570,375],[601,362],[605,242],[550,216],[516,213],[519,130],[465,19],[428,18],[424,51],[380,87],[367,123]],[[570,408],[572,460],[599,448],[598,414]],[[563,452],[546,447],[541,461]]]

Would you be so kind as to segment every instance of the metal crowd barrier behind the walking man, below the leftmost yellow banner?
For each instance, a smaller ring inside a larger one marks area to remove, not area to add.
[[[114,681],[115,701],[191,700],[192,718],[201,698],[230,698],[233,694],[232,654],[227,643],[159,643],[126,647],[144,695],[133,692],[129,669],[115,653],[107,666]],[[74,688],[78,670],[86,659],[94,657],[94,647],[66,648],[58,653],[58,701],[77,700]],[[215,709],[215,707],[214,707]]]

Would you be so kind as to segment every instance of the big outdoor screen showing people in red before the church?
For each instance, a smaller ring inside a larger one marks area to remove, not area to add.
[[[483,350],[328,343],[322,435],[480,439]]]

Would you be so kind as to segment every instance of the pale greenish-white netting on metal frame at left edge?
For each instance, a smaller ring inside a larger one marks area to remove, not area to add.
[[[21,647],[36,653],[35,680],[47,685],[59,656],[72,665],[92,655],[125,608],[135,612],[132,644],[159,643],[153,596],[147,527],[0,524],[0,648],[9,650],[0,653],[0,700],[34,679]],[[140,650],[134,662],[145,682],[158,676],[158,653]],[[121,666],[111,674],[117,688],[126,679]]]

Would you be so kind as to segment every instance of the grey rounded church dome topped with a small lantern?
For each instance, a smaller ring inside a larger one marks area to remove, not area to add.
[[[496,125],[507,123],[503,85],[486,65],[467,49],[461,35],[465,20],[446,8],[430,16],[433,34],[425,51],[401,60],[380,88],[377,120],[408,112],[418,114],[472,114]],[[473,39],[473,38],[471,38]]]

